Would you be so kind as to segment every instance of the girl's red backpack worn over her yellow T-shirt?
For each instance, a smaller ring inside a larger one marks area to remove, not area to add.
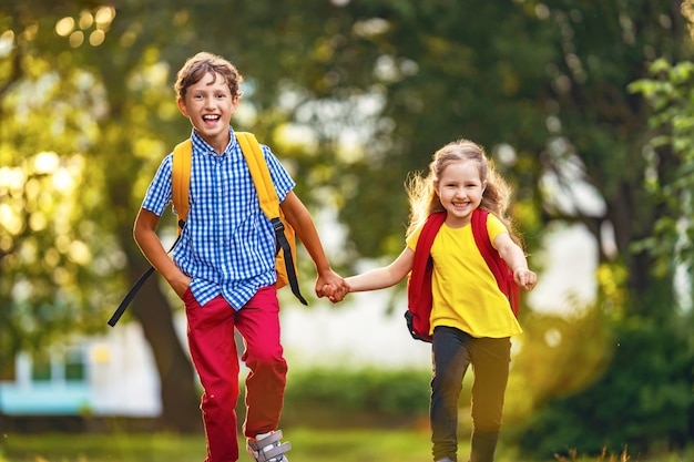
[[[518,318],[520,289],[513,281],[513,273],[489,240],[487,230],[488,215],[489,212],[480,208],[472,212],[471,225],[474,243],[484,261],[487,261],[489,269],[497,278],[499,289],[509,299],[513,315]],[[433,213],[427,218],[417,240],[412,270],[407,281],[408,306],[407,311],[405,311],[407,327],[412,338],[429,342],[431,341],[429,317],[431,315],[431,273],[433,270],[430,251],[433,239],[443,222],[446,222],[446,212]]]

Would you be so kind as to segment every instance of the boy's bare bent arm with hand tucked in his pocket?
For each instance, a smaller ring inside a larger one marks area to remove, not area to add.
[[[154,212],[141,208],[137,218],[135,218],[133,236],[150,264],[166,279],[178,297],[183,298],[191,284],[191,278],[178,269],[162,246],[162,242],[156,235],[159,219],[159,215]]]

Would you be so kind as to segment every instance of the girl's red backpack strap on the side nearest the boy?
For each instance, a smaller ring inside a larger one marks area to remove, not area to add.
[[[431,341],[429,317],[431,315],[431,245],[441,225],[446,222],[446,212],[437,212],[427,218],[415,247],[412,270],[407,281],[408,309],[405,312],[407,326],[412,338]]]

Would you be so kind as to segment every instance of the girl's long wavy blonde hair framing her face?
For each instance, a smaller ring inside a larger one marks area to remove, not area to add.
[[[422,226],[429,215],[446,211],[437,193],[439,178],[446,167],[456,162],[473,162],[477,165],[480,179],[487,182],[480,208],[494,214],[507,227],[511,238],[521,245],[520,238],[514,233],[513,223],[507,216],[511,187],[494,170],[493,162],[487,158],[482,146],[469,140],[448,143],[433,154],[427,176],[416,173],[408,179],[406,188],[410,202],[410,217],[407,235]]]

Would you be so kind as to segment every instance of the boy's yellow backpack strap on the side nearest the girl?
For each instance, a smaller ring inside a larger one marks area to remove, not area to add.
[[[285,225],[282,222],[282,209],[279,208],[279,198],[273,184],[273,178],[269,175],[269,168],[265,161],[265,155],[258,141],[253,133],[236,132],[236,140],[241,145],[241,151],[244,153],[246,164],[251,171],[253,177],[253,184],[258,194],[258,201],[263,213],[267,216],[275,230],[275,246],[276,253],[282,249],[284,255],[284,263],[287,270],[287,279],[289,280],[289,287],[292,294],[303,304],[308,305],[308,301],[302,296],[299,290],[298,279],[296,277],[296,266],[294,264],[294,256],[292,255],[292,246],[285,235]]]

